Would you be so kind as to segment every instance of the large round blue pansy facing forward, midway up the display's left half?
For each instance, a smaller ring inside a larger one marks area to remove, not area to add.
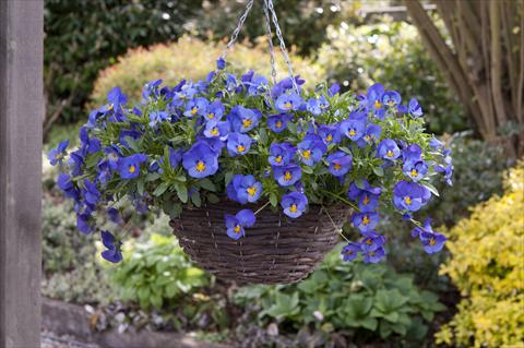
[[[182,166],[192,178],[205,178],[218,170],[218,154],[205,142],[196,142],[182,155]]]

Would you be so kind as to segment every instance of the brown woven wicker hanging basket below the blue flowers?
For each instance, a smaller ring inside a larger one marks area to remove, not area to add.
[[[238,241],[226,233],[224,214],[246,206],[230,201],[201,208],[187,208],[170,225],[180,247],[200,266],[221,279],[239,284],[288,284],[307,277],[338,240],[349,209],[310,205],[297,219],[265,208],[257,224]],[[333,219],[332,220],[330,219]]]

